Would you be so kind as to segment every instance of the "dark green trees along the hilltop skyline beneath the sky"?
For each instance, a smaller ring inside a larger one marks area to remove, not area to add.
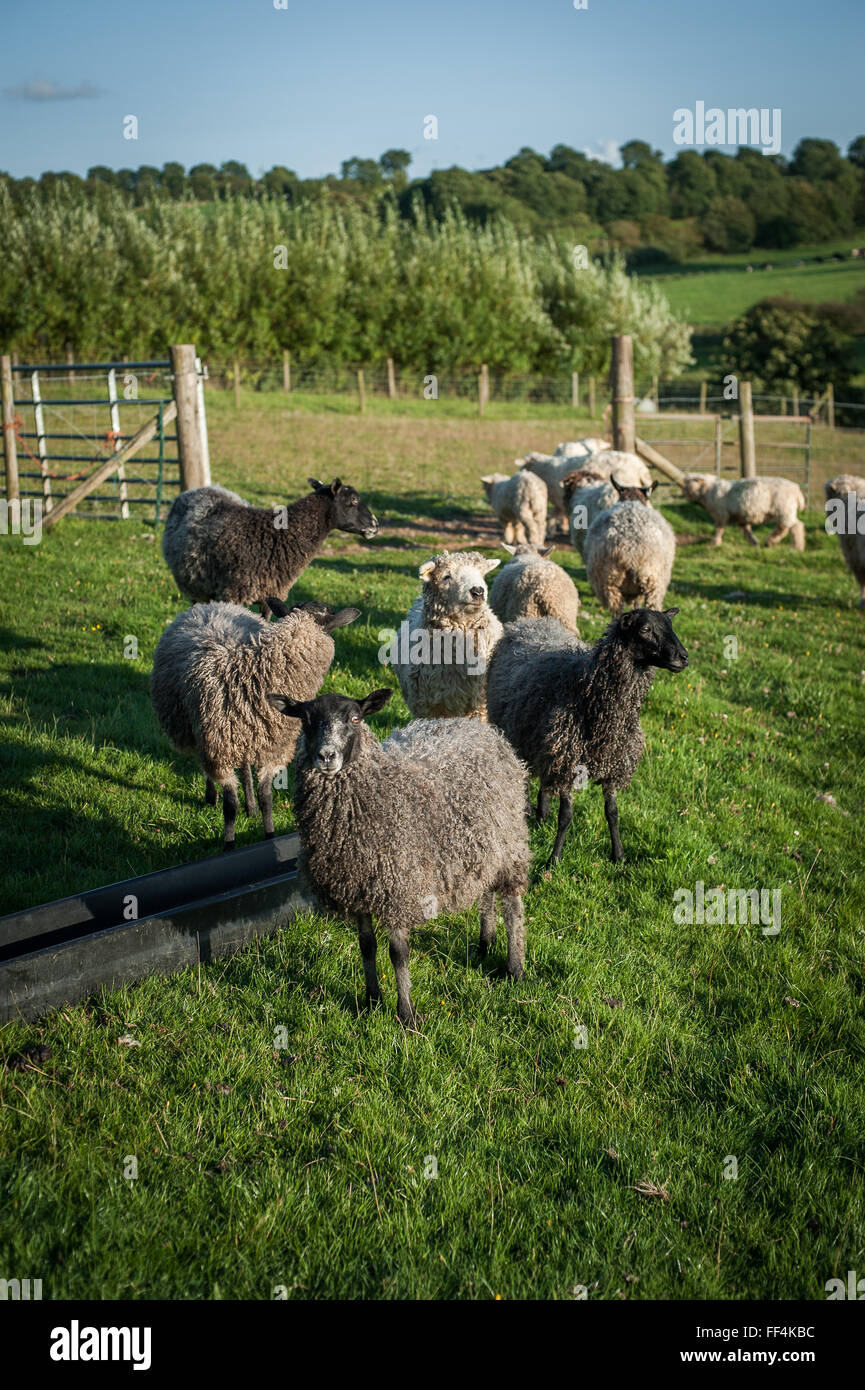
[[[736,154],[681,150],[665,163],[644,140],[627,140],[620,156],[622,168],[613,168],[567,145],[556,145],[548,156],[522,149],[496,168],[453,167],[414,181],[407,177],[412,157],[406,150],[385,150],[378,160],[355,156],[342,163],[339,177],[323,179],[300,179],[282,165],[253,178],[235,160],[218,168],[196,164],[189,171],[175,163],[161,170],[97,165],[85,179],[72,174],[0,179],[17,200],[33,190],[50,192],[57,182],[96,197],[118,190],[139,206],[157,199],[274,196],[296,206],[327,195],[338,206],[391,203],[407,220],[420,197],[437,218],[456,204],[471,222],[505,215],[535,235],[567,227],[587,245],[605,231],[615,246],[642,249],[636,263],[651,260],[652,250],[655,259],[684,259],[702,247],[790,247],[865,225],[865,136],[857,136],[846,156],[832,140],[811,138],[800,140],[790,160],[743,146]]]

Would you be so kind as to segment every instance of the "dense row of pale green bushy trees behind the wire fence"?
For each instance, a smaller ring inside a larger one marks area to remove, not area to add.
[[[567,238],[535,238],[419,200],[335,208],[281,197],[213,207],[67,185],[13,200],[0,185],[0,342],[39,357],[164,354],[377,363],[445,373],[602,373],[609,336],[633,332],[637,368],[669,378],[690,329],[620,260],[574,267]]]

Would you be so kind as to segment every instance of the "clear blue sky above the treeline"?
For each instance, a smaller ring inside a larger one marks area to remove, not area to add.
[[[862,0],[40,0],[7,6],[1,35],[17,177],[236,158],[312,178],[389,147],[417,177],[634,138],[672,154],[697,100],[780,107],[786,154],[865,133]]]

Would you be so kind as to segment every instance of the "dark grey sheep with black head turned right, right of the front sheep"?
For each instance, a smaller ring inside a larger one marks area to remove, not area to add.
[[[594,646],[552,619],[520,619],[492,653],[490,720],[540,778],[538,820],[547,820],[551,796],[559,798],[551,865],[562,858],[574,788],[587,781],[604,790],[612,858],[624,858],[616,792],[630,784],[642,753],[640,710],[654,667],[681,671],[688,664],[673,632],[677,612],[623,613]]]

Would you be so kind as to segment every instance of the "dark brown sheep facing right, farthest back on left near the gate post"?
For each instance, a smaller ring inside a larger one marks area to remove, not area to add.
[[[350,484],[309,480],[312,492],[284,507],[250,507],[227,488],[191,488],[175,498],[163,555],[181,594],[195,603],[284,599],[331,531],[370,541],[378,521]]]

